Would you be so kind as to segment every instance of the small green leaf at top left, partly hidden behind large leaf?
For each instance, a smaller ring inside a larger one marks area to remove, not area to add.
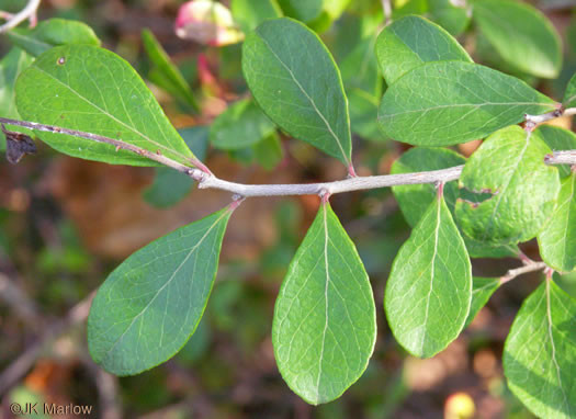
[[[10,42],[37,57],[55,46],[84,44],[100,46],[100,39],[87,24],[66,19],[42,21],[29,30],[15,27],[8,32]]]

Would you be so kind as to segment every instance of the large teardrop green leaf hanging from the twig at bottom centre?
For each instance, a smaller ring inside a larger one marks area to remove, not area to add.
[[[278,367],[298,396],[338,398],[364,372],[376,314],[364,265],[328,203],[292,260],[274,309]]]

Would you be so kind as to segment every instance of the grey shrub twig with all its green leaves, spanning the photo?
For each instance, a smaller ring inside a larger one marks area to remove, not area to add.
[[[240,18],[253,12],[242,22],[257,26],[244,41],[241,60],[257,106],[251,102],[237,111],[263,111],[283,132],[341,161],[347,179],[260,185],[219,179],[190,150],[131,65],[101,48],[90,29],[52,20],[9,32],[15,46],[2,69],[7,81],[15,80],[15,107],[0,115],[9,148],[18,149],[22,135],[34,135],[69,156],[166,166],[197,181],[200,189],[233,193],[225,208],[157,239],[110,274],[88,320],[94,361],[113,374],[129,375],[173,356],[202,318],[235,208],[250,196],[314,194],[320,197],[319,210],[278,295],[272,342],[279,370],[296,394],[315,405],[338,398],[368,366],[376,307],[363,263],[329,199],[392,186],[413,227],[384,297],[398,343],[416,356],[433,356],[459,337],[500,284],[543,270],[544,282],[526,299],[506,341],[505,375],[534,414],[575,417],[576,302],[552,274],[576,269],[576,135],[541,124],[576,113],[576,79],[558,103],[519,78],[475,64],[436,23],[402,16],[402,10],[391,15],[384,1],[392,23],[375,41],[387,83],[377,125],[386,137],[418,147],[394,163],[392,174],[359,177],[347,92],[330,52],[304,23],[279,16],[278,8],[258,14],[240,3],[233,1],[233,10]],[[494,0],[474,1],[471,10],[511,65],[539,77],[557,76],[560,38],[540,12]],[[502,16],[508,22],[498,26]],[[512,30],[541,37],[520,46],[502,42],[502,33]],[[55,36],[63,31],[74,33],[74,41]],[[148,32],[145,39],[158,53],[157,63],[170,69],[154,35]],[[533,59],[529,68],[527,56]],[[16,64],[18,80],[8,79]],[[170,86],[180,86],[178,73],[169,73]],[[189,93],[183,100],[197,106]],[[267,135],[274,129],[266,116],[259,118]],[[468,159],[441,148],[477,138],[484,141]],[[543,262],[528,259],[517,246],[533,238]],[[471,258],[506,256],[524,265],[499,279],[473,278]]]

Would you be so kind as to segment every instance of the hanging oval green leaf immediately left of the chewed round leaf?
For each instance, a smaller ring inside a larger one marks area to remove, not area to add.
[[[443,196],[439,196],[392,264],[384,296],[388,325],[408,352],[433,356],[464,328],[471,298],[466,247]]]

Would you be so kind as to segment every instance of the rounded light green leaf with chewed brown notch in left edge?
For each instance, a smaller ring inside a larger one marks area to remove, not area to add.
[[[544,163],[550,152],[538,132],[529,135],[516,125],[489,136],[460,177],[460,188],[471,193],[456,202],[462,230],[495,245],[535,237],[560,190],[557,169]]]

